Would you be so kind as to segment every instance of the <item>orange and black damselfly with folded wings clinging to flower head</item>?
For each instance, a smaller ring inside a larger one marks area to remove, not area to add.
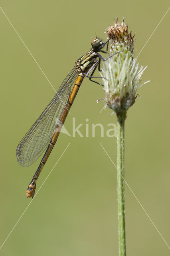
[[[105,43],[98,38],[95,38],[91,42],[91,50],[75,62],[74,68],[63,80],[54,98],[49,102],[40,117],[20,141],[16,150],[16,155],[18,163],[24,167],[33,164],[48,145],[40,165],[38,166],[32,181],[28,185],[28,189],[26,191],[27,197],[33,198],[34,196],[38,176],[40,175],[40,172],[42,171],[42,168],[46,163],[55,142],[57,141],[60,130],[65,122],[71,105],[73,104],[79,87],[81,86],[83,78],[86,76],[91,80],[91,78],[94,77],[93,74],[97,66],[100,70],[101,60],[105,61],[111,57],[109,56],[104,59],[99,54],[99,52],[107,53],[102,50],[107,43],[109,43],[109,40]],[[97,58],[99,58],[99,60]],[[89,75],[90,73],[91,75]],[[99,84],[96,81],[93,82]],[[71,91],[71,86],[73,84],[74,86]]]

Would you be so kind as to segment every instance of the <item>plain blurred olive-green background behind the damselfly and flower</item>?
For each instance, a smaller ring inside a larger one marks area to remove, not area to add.
[[[125,18],[135,34],[136,56],[165,12],[168,1],[7,1],[4,10],[42,70],[57,90],[75,61],[87,52],[114,18]],[[169,22],[168,12],[140,55],[148,68],[142,81],[152,80],[138,91],[140,98],[128,110],[125,126],[125,180],[164,237],[169,235]],[[28,168],[16,160],[16,147],[55,92],[28,50],[0,10],[1,163],[0,244],[32,199],[26,188],[39,164]],[[95,73],[96,75],[97,72]],[[99,144],[116,163],[116,138],[91,136],[92,123],[117,123],[111,110],[103,110],[103,88],[83,81],[65,122],[71,133],[72,118],[89,138],[60,134],[38,180],[43,184],[4,246],[0,255],[112,256],[118,255],[117,170]],[[38,191],[37,188],[37,191]],[[126,192],[127,255],[169,255],[129,188]]]

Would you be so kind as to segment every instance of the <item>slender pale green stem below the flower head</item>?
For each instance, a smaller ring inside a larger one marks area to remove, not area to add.
[[[125,118],[126,113],[117,116],[117,195],[119,222],[119,256],[126,256],[124,182]]]

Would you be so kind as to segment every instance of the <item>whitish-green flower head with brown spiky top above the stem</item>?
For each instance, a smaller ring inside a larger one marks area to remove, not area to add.
[[[106,104],[117,115],[124,114],[136,99],[136,91],[140,85],[141,76],[146,69],[136,62],[134,57],[134,36],[128,32],[124,19],[120,24],[118,18],[107,30],[111,42],[111,54],[122,51],[103,62],[101,76],[106,95]],[[148,81],[149,82],[149,81]]]

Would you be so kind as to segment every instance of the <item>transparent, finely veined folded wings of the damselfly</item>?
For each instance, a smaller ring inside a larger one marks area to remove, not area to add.
[[[51,140],[76,78],[77,70],[74,67],[62,82],[54,98],[18,144],[16,156],[21,166],[33,164]]]

